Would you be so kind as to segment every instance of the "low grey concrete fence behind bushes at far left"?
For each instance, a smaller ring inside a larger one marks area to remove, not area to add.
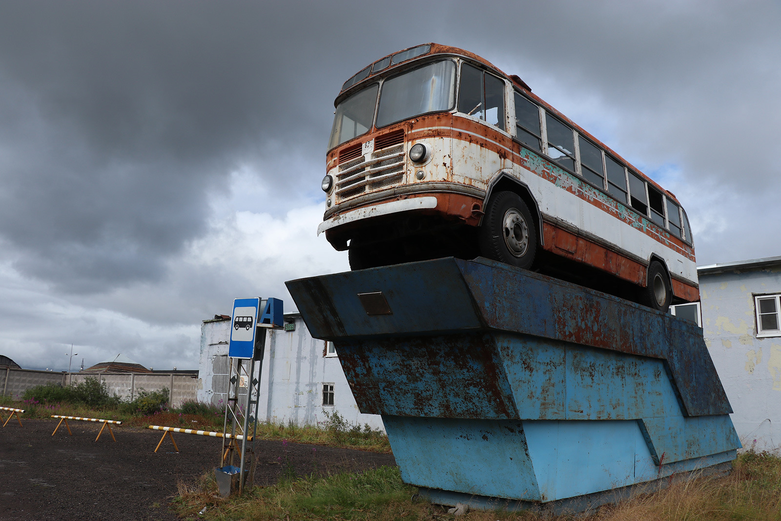
[[[5,374],[3,374],[5,373]],[[52,371],[37,371],[34,369],[0,369],[0,384],[2,394],[13,398],[21,398],[24,391],[37,385],[45,384],[79,384],[88,377],[100,378],[109,388],[109,394],[117,394],[120,398],[133,400],[138,391],[159,391],[163,387],[169,390],[169,403],[174,407],[184,401],[194,401],[198,390],[198,378],[187,374],[174,373],[52,373]]]

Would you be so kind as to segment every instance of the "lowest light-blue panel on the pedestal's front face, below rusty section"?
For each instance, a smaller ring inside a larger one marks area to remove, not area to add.
[[[405,483],[540,501],[518,420],[384,416]]]

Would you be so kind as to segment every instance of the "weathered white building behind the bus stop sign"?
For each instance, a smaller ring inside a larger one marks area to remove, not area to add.
[[[198,401],[221,405],[226,398],[230,325],[226,315],[203,321]],[[312,338],[299,313],[286,313],[285,329],[266,334],[259,419],[314,425],[326,419],[323,412],[338,411],[349,423],[384,430],[379,415],[358,412],[333,344]]]

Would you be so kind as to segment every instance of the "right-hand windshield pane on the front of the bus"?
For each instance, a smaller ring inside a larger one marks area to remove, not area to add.
[[[385,80],[377,109],[377,127],[384,127],[426,112],[453,108],[455,63],[429,63]]]

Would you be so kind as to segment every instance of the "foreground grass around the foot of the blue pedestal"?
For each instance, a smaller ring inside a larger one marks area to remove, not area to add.
[[[455,519],[447,510],[412,501],[414,487],[401,483],[397,468],[382,467],[360,474],[309,476],[255,487],[242,496],[219,498],[212,476],[198,484],[179,484],[174,501],[187,519]],[[198,512],[206,507],[202,516]],[[618,505],[603,505],[579,516],[535,512],[470,511],[465,521],[779,521],[781,459],[747,452],[738,457],[729,476],[694,476],[672,482],[653,494]]]

